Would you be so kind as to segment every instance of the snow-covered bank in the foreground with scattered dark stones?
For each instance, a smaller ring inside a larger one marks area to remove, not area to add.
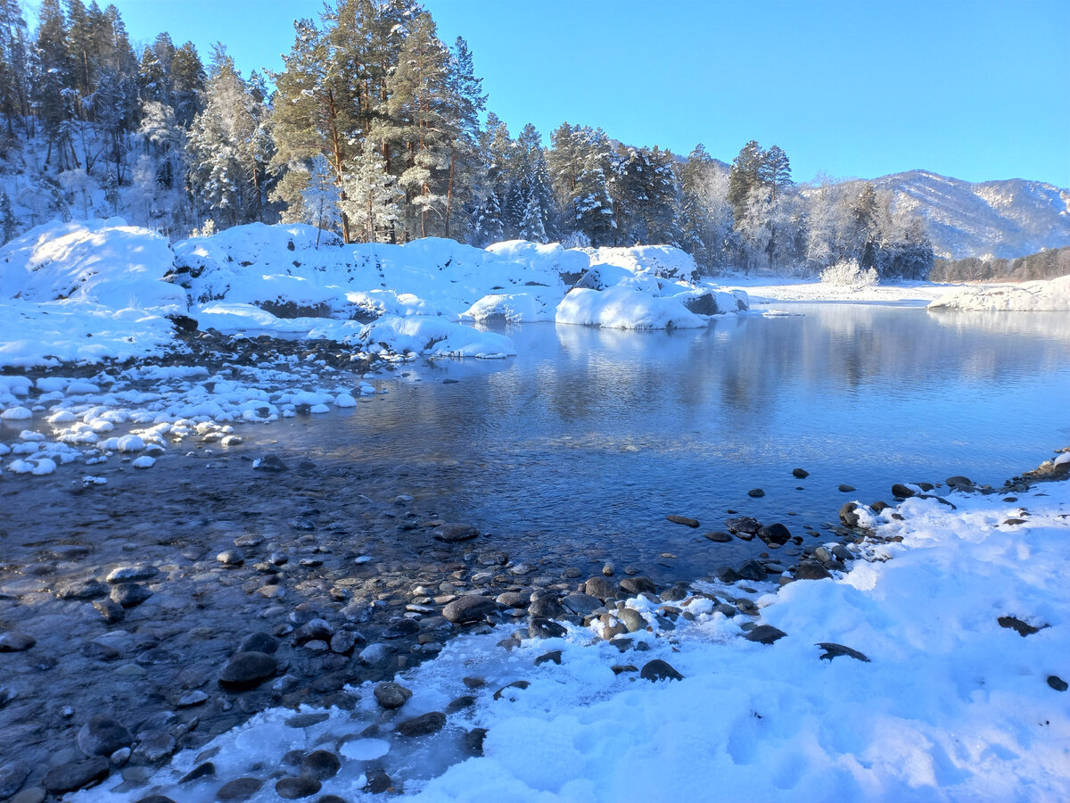
[[[673,630],[654,616],[658,603],[636,597],[627,605],[652,626],[628,637],[645,651],[622,652],[575,625],[508,651],[498,646],[502,628],[452,640],[399,678],[414,691],[399,715],[442,710],[463,694],[476,703],[416,746],[360,737],[380,716],[366,687],[356,712],[335,711],[307,730],[284,726],[290,711],[259,714],[214,741],[213,761],[236,777],[276,766],[288,749],[341,740],[342,770],[322,793],[354,800],[365,799],[372,759],[386,762],[399,797],[426,803],[708,800],[712,788],[724,801],[1067,800],[1070,708],[1048,679],[1070,676],[1070,482],[1014,503],[958,491],[948,500],[953,507],[914,498],[865,511],[881,536],[856,547],[868,560],[830,579],[768,588],[756,599],[761,621],[788,634],[771,646],[742,638],[747,618],[725,618],[707,596],[676,603],[690,620]],[[1012,517],[1025,522],[1005,524]],[[720,599],[743,593],[698,586]],[[1022,637],[1000,617],[1040,630]],[[819,642],[869,661],[822,660]],[[535,666],[550,650],[561,664]],[[611,669],[653,658],[684,679],[652,683]],[[474,672],[488,683],[472,692],[461,679]],[[526,688],[493,699],[521,679]],[[485,755],[459,760],[453,745],[471,727],[487,728]],[[174,796],[196,753],[157,773],[162,793]],[[114,786],[72,799],[122,800]],[[181,798],[208,801],[217,786],[187,784]],[[268,786],[251,798],[274,799]]]

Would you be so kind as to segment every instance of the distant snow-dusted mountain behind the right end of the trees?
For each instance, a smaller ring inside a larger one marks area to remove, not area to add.
[[[1070,245],[1070,191],[1051,184],[1023,179],[974,184],[927,170],[870,183],[924,217],[938,257],[1012,259]]]

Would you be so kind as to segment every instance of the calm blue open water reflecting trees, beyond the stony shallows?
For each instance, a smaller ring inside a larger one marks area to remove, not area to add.
[[[729,510],[801,533],[895,482],[998,486],[1070,442],[1070,316],[780,307],[700,331],[513,327],[515,358],[404,366],[352,411],[263,431],[395,482],[408,465],[404,493],[533,552],[605,549],[660,579],[727,562],[699,533]]]

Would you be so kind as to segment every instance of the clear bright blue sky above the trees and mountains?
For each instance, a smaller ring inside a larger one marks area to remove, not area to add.
[[[244,73],[278,69],[321,0],[112,0]],[[105,0],[101,0],[102,5]],[[924,168],[1070,187],[1068,0],[426,0],[464,36],[492,109],[731,162],[779,145],[796,181]]]

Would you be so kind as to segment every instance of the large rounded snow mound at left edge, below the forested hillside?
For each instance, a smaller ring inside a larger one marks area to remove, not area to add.
[[[54,221],[0,248],[0,299],[185,312],[182,289],[162,281],[171,261],[166,238],[120,217]]]

